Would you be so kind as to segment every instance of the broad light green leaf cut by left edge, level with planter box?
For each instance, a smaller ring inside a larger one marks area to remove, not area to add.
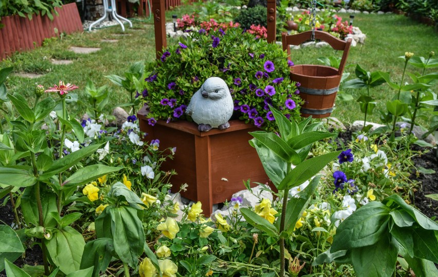
[[[8,165],[0,167],[0,180],[6,186],[29,187],[36,182],[32,170],[27,165]]]

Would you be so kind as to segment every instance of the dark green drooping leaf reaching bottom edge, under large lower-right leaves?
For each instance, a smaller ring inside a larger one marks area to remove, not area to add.
[[[351,252],[354,271],[363,277],[391,277],[397,262],[397,252],[397,245],[386,235],[373,245],[354,248]]]

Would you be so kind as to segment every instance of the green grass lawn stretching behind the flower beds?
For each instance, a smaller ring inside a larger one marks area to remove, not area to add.
[[[167,21],[171,21],[171,15],[190,12],[192,7],[176,8],[166,13]],[[347,19],[348,14],[339,14]],[[31,102],[34,99],[33,88],[35,84],[45,87],[58,83],[59,80],[74,83],[79,86],[76,90],[79,98],[83,93],[83,87],[87,79],[91,79],[96,86],[107,85],[111,100],[107,105],[107,113],[118,103],[128,99],[126,91],[113,85],[105,75],[123,75],[123,72],[136,61],[150,62],[155,59],[154,29],[151,19],[134,19],[133,29],[127,28],[126,36],[117,36],[122,33],[119,25],[103,28],[93,32],[81,32],[63,36],[62,39],[46,40],[42,47],[32,51],[16,53],[12,57],[0,63],[0,67],[14,66],[16,72],[45,73],[43,77],[28,79],[10,76],[7,81],[9,93],[24,93]],[[360,64],[369,71],[382,70],[391,73],[392,79],[399,82],[403,72],[404,61],[398,57],[404,56],[406,51],[415,53],[416,56],[427,57],[430,51],[438,54],[438,34],[432,27],[419,24],[403,15],[395,14],[356,14],[354,25],[367,34],[364,44],[352,47],[345,71],[352,72],[354,67]],[[126,25],[125,25],[126,26]],[[126,26],[127,27],[127,26]],[[117,43],[101,42],[103,39],[116,39]],[[175,39],[168,39],[168,44],[175,43]],[[101,50],[92,54],[75,54],[68,50],[71,46],[100,47]],[[280,47],[280,46],[279,46]],[[334,55],[334,51],[328,48],[306,48],[293,52],[293,61],[296,64],[318,63],[319,57]],[[338,53],[339,54],[339,53]],[[50,59],[69,59],[74,63],[69,65],[53,65]],[[408,71],[415,68],[408,65]],[[405,79],[409,81],[409,78]],[[435,89],[436,91],[436,89]],[[347,90],[355,97],[359,90]],[[371,94],[378,102],[377,108],[385,108],[385,102],[391,99],[396,91],[388,85],[377,87]],[[363,119],[359,112],[359,106],[355,101],[337,101],[333,116],[344,123],[352,123],[354,120]],[[80,117],[84,113],[85,106],[82,104],[69,107],[70,113]],[[369,117],[371,121],[378,122],[378,116]]]

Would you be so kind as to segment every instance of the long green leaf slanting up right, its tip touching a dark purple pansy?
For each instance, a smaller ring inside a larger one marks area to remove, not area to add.
[[[320,172],[325,165],[339,156],[340,153],[341,151],[328,153],[301,162],[293,170],[289,171],[286,177],[281,181],[278,189],[289,190],[293,187],[299,186]]]

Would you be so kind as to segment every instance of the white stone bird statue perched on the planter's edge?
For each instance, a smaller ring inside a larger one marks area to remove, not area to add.
[[[198,124],[201,132],[211,128],[224,130],[230,126],[228,120],[233,114],[233,99],[224,80],[208,78],[190,99],[186,114]]]

